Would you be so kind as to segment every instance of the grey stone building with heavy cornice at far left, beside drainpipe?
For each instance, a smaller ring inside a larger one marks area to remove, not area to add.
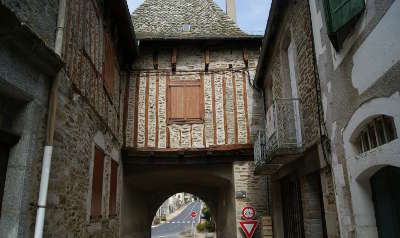
[[[57,9],[26,14],[39,2],[0,3],[1,237],[30,236],[32,167],[43,153],[49,85],[63,66],[53,50]]]

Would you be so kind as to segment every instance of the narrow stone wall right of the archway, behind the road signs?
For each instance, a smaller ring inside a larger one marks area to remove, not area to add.
[[[246,206],[252,206],[256,210],[256,219],[259,221],[256,233],[253,237],[261,238],[265,233],[262,231],[263,217],[266,211],[266,180],[264,176],[254,175],[254,162],[234,162],[233,163],[233,179],[235,184],[235,194],[245,192],[246,197],[235,197],[236,207],[236,229],[237,237],[243,237],[244,233],[240,227],[242,220],[242,210]],[[265,223],[265,220],[264,220]],[[272,233],[270,234],[272,235]]]

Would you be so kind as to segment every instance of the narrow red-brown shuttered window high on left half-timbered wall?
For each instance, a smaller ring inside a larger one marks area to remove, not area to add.
[[[114,77],[115,77],[115,57],[114,49],[110,37],[104,33],[104,88],[108,96],[114,96]]]

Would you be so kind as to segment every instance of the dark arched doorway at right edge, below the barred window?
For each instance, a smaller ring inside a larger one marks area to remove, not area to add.
[[[385,167],[371,178],[379,238],[400,237],[400,169]]]

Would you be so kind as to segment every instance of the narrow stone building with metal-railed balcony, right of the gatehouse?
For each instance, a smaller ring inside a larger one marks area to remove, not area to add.
[[[339,237],[306,0],[272,1],[255,83],[266,118],[255,173],[270,181],[274,237]]]

